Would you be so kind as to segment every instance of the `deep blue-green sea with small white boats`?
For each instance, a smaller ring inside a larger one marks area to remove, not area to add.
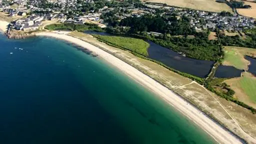
[[[0,143],[215,141],[99,57],[54,38],[0,35]]]

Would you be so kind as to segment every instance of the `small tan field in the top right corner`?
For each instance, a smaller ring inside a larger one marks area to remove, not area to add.
[[[244,4],[248,4],[251,6],[251,8],[238,8],[237,11],[239,14],[248,16],[248,17],[253,17],[256,18],[256,3],[255,2],[248,2],[248,1],[243,1]]]

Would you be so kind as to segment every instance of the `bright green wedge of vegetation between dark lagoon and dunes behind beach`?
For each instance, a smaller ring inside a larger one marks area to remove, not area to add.
[[[147,48],[149,47],[149,43],[145,42],[142,39],[97,34],[93,34],[93,36],[108,44],[116,45],[120,48],[127,49],[142,54],[144,56],[148,56]]]

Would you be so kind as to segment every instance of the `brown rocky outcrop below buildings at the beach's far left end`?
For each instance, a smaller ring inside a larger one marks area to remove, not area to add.
[[[30,36],[35,36],[36,32],[24,32],[24,31],[18,31],[18,30],[13,30],[13,29],[8,29],[4,32],[4,34],[8,37],[8,38],[14,38],[14,39],[21,39],[21,38],[26,38],[26,37],[30,37]]]

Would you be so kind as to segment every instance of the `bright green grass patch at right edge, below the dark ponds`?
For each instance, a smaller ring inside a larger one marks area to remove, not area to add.
[[[256,79],[244,75],[239,80],[242,90],[249,96],[249,98],[256,102]]]

